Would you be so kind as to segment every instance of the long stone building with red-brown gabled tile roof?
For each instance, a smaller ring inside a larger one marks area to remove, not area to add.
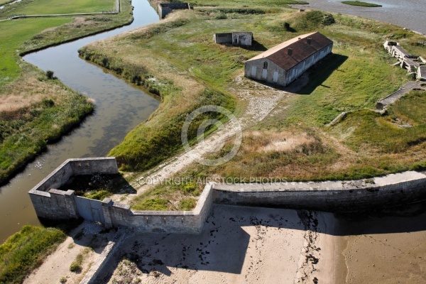
[[[321,33],[307,33],[246,61],[245,76],[287,86],[332,52],[333,42]]]

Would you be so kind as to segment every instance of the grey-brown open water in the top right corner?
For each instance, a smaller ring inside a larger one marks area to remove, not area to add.
[[[349,15],[373,18],[386,23],[393,23],[410,30],[426,34],[426,0],[371,0],[383,7],[362,7],[342,4],[342,0],[309,0],[308,5],[295,5],[310,9],[347,13]]]

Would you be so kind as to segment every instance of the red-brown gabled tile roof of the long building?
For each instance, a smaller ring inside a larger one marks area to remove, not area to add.
[[[310,43],[308,43],[307,38],[311,39]],[[299,62],[308,58],[310,55],[332,43],[332,40],[329,40],[329,38],[325,37],[321,33],[307,33],[305,35],[299,35],[291,40],[287,40],[284,43],[280,43],[279,45],[266,50],[264,53],[249,59],[248,61],[268,58],[284,70],[289,70]],[[288,54],[289,48],[293,50],[291,55]]]

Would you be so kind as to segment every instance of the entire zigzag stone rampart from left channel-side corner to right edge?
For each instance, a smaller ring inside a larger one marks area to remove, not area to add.
[[[426,200],[426,175],[415,171],[348,181],[209,183],[192,211],[132,211],[129,205],[109,198],[89,200],[72,190],[57,190],[72,175],[96,173],[118,173],[115,158],[70,159],[62,163],[28,192],[38,217],[82,217],[107,227],[128,226],[141,232],[198,234],[213,203],[360,212]]]

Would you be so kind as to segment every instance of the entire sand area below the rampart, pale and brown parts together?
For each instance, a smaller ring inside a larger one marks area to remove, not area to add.
[[[215,205],[200,235],[131,236],[98,283],[426,283],[424,208],[335,216]]]

